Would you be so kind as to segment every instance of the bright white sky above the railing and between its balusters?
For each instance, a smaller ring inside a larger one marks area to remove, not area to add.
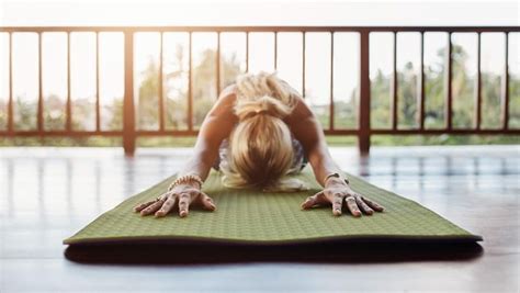
[[[0,0],[0,25],[4,26],[59,26],[59,25],[520,25],[518,1],[13,1]],[[398,35],[397,66],[407,61],[417,66],[419,35]],[[250,70],[273,69],[273,35],[250,35]],[[316,103],[329,99],[330,36],[323,33],[307,34],[306,88]],[[136,37],[135,68],[145,68],[148,56],[158,56],[158,34]],[[170,58],[176,43],[185,37],[169,35],[165,38],[166,58]],[[475,71],[474,34],[455,35],[453,42],[470,52],[466,68]],[[346,98],[358,82],[358,35],[337,34],[335,37],[335,95]],[[519,71],[519,37],[510,37],[510,67]],[[110,102],[123,94],[123,37],[121,34],[100,34],[100,93],[102,102]],[[215,34],[195,34],[193,37],[194,63],[199,52],[215,47]],[[377,68],[391,71],[391,34],[371,36],[371,71]],[[431,33],[426,38],[426,65],[438,61],[436,52],[445,45],[445,35]],[[223,34],[223,54],[236,52],[245,60],[244,34]],[[299,34],[279,35],[279,72],[301,90],[302,40]],[[66,35],[44,34],[43,38],[44,94],[66,97]],[[0,33],[0,99],[8,97],[7,34]],[[381,50],[381,48],[386,48]],[[95,35],[72,34],[71,93],[72,97],[92,97],[95,92],[94,70]],[[378,50],[377,50],[378,49]],[[483,35],[483,70],[500,72],[504,54],[501,34]],[[168,57],[170,56],[170,57]],[[37,97],[37,35],[13,35],[13,93],[35,99]],[[165,68],[168,67],[166,66]]]

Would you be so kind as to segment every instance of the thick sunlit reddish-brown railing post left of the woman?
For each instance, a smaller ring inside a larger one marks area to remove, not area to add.
[[[134,108],[134,32],[125,31],[125,97],[123,100],[123,148],[126,156],[135,153]]]

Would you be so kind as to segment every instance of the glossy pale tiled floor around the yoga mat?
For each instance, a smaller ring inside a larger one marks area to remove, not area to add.
[[[174,173],[191,150],[0,148],[0,292],[477,291],[518,292],[518,146],[331,148],[347,171],[483,235],[465,261],[93,266],[61,240],[125,198]]]

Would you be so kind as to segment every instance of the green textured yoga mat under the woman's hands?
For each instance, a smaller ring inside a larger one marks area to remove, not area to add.
[[[420,204],[350,176],[352,189],[385,206],[383,213],[353,217],[346,209],[339,217],[329,206],[303,211],[301,203],[320,190],[307,166],[301,178],[312,187],[297,193],[262,193],[231,190],[221,184],[213,170],[203,191],[214,199],[215,212],[190,209],[188,217],[142,217],[133,212],[138,203],[157,198],[174,176],[102,214],[64,240],[67,245],[134,244],[140,241],[200,241],[215,244],[276,245],[330,243],[335,240],[433,240],[479,241],[482,237],[454,225]]]

